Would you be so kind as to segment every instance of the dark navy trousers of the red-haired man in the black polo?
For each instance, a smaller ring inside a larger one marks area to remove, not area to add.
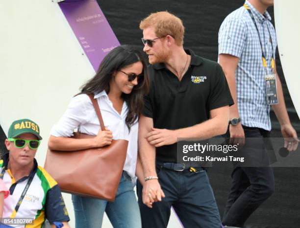
[[[142,202],[142,185],[137,183],[143,228],[166,228],[171,206],[185,228],[221,228],[216,200],[206,171],[182,172],[156,166],[158,181],[166,197],[149,208]]]

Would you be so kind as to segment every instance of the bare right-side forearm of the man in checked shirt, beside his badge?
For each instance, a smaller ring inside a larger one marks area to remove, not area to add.
[[[286,125],[286,124],[291,124],[289,115],[286,111],[286,106],[285,106],[284,96],[283,96],[283,91],[282,91],[282,85],[281,85],[280,79],[277,74],[276,74],[276,80],[277,80],[278,104],[272,105],[272,108],[273,108],[275,115],[278,119],[278,122],[280,123],[281,126]]]

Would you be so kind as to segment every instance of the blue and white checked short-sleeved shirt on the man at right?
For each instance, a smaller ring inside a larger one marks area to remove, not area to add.
[[[275,29],[271,16],[266,11],[261,15],[247,0],[256,21],[267,61],[267,71],[272,73],[272,52],[275,58],[277,46]],[[271,33],[273,50],[270,42]],[[271,130],[270,105],[265,90],[266,70],[263,67],[261,46],[255,25],[249,12],[242,6],[230,13],[219,30],[219,54],[239,58],[235,71],[237,105],[242,124]]]

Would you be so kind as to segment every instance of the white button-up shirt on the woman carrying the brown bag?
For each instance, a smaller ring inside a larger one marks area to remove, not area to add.
[[[130,128],[129,133],[125,124],[128,112],[126,102],[124,102],[122,112],[119,114],[114,109],[105,91],[96,94],[94,98],[98,101],[104,126],[112,132],[113,139],[128,140],[127,155],[123,170],[130,177],[134,178],[137,160],[138,122]],[[67,111],[58,123],[52,127],[50,134],[55,137],[70,137],[76,128],[78,128],[80,133],[91,136],[96,136],[100,130],[98,116],[90,98],[86,94],[80,94],[71,99]]]

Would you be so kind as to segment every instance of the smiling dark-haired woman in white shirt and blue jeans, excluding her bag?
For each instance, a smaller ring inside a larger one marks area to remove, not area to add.
[[[81,87],[81,92],[72,98],[65,114],[53,126],[48,142],[52,150],[102,147],[111,144],[112,138],[128,140],[123,174],[114,202],[72,195],[76,228],[100,227],[104,211],[114,228],[141,227],[132,179],[137,165],[138,119],[143,95],[148,88],[147,64],[142,54],[131,46],[118,46],[106,55],[96,75]],[[100,129],[97,114],[87,95],[90,93],[95,94],[100,106],[105,131]],[[80,133],[95,137],[70,138],[75,128]]]

